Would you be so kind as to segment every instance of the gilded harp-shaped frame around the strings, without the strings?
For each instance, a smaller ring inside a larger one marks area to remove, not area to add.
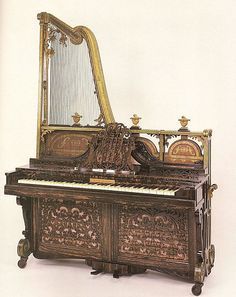
[[[44,135],[50,131],[62,130],[62,126],[48,124],[48,70],[50,52],[47,51],[45,44],[48,40],[49,25],[55,26],[60,30],[72,44],[79,45],[83,40],[86,41],[89,59],[92,68],[95,90],[101,114],[100,119],[105,124],[115,122],[110,106],[98,44],[93,32],[85,26],[70,27],[52,14],[41,12],[37,15],[40,24],[40,45],[39,45],[39,89],[38,89],[38,123],[37,123],[37,148],[36,155],[40,156],[41,143]],[[78,131],[98,131],[99,127],[67,127],[68,130]]]

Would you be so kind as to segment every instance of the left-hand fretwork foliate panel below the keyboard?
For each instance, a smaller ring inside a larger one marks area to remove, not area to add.
[[[43,199],[40,202],[43,244],[101,250],[101,206],[95,202]]]

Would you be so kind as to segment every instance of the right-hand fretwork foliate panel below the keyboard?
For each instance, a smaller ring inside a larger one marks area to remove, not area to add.
[[[124,206],[119,253],[188,263],[188,214],[183,210]]]

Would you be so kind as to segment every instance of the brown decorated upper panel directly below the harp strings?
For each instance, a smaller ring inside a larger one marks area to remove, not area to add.
[[[92,135],[55,131],[45,137],[46,156],[79,157],[87,151]]]

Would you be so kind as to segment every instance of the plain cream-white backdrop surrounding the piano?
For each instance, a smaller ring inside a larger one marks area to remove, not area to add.
[[[236,296],[236,1],[0,1],[0,296],[191,296],[191,284],[155,272],[113,279],[90,276],[77,261],[16,266],[23,219],[4,196],[4,173],[36,151],[39,26],[47,11],[97,37],[110,103],[119,122],[142,128],[213,129],[212,241],[216,265],[203,296]]]

